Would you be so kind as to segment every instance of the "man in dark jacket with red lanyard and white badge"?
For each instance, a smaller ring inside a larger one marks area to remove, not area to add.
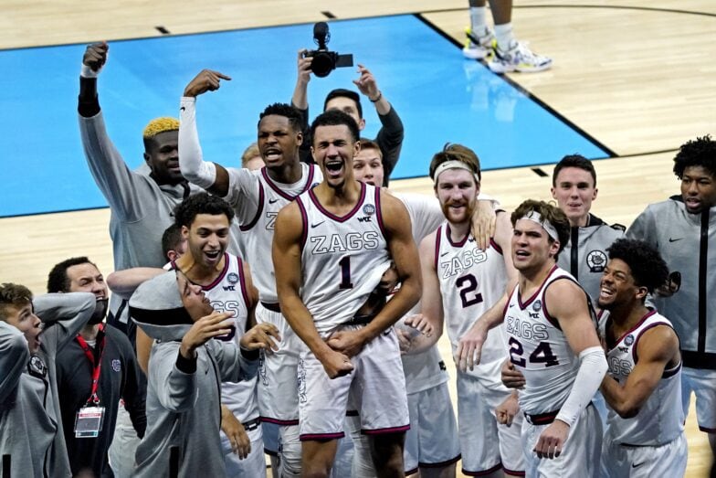
[[[47,292],[91,292],[96,298],[89,322],[57,356],[59,405],[72,473],[113,476],[107,452],[120,399],[139,437],[146,428],[144,389],[132,344],[120,330],[102,324],[109,289],[88,258],[59,262],[49,273]],[[89,411],[101,415],[100,424],[82,436],[78,419]]]

